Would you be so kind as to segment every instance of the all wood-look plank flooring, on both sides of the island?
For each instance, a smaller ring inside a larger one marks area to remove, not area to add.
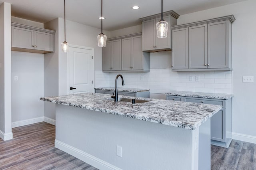
[[[54,147],[55,126],[36,123],[12,128],[0,138],[0,170],[97,170]],[[256,144],[232,140],[229,148],[211,146],[211,170],[256,170]]]

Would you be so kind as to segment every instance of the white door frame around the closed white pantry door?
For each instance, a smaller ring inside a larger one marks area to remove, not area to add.
[[[74,48],[81,48],[81,49],[89,49],[89,50],[92,50],[92,68],[93,68],[93,70],[92,70],[92,73],[93,73],[93,78],[92,78],[92,81],[94,82],[94,83],[92,83],[92,85],[93,85],[93,88],[94,88],[94,84],[95,84],[95,81],[94,81],[94,77],[95,77],[95,75],[94,75],[94,48],[92,48],[92,47],[84,47],[84,46],[80,46],[80,45],[73,45],[73,44],[69,44],[69,48],[70,47],[74,47]],[[69,95],[69,51],[70,50],[68,50],[68,53],[67,53],[67,94]]]

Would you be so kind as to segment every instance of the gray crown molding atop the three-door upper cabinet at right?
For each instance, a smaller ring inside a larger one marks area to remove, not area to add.
[[[208,24],[208,23],[212,23],[212,22],[225,21],[225,20],[229,20],[230,23],[232,24],[236,20],[236,18],[234,17],[234,15],[223,16],[223,17],[219,17],[219,18],[212,18],[210,20],[204,20],[204,21],[199,21],[199,22],[192,22],[192,23],[188,23],[188,24],[181,24],[181,25],[171,26],[171,29],[174,30],[174,29],[179,29],[179,28],[197,26],[197,25]]]

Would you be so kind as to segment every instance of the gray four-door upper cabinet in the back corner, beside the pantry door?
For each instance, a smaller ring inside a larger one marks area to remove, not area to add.
[[[141,33],[110,40],[103,48],[103,71],[150,71],[150,55],[142,51]]]

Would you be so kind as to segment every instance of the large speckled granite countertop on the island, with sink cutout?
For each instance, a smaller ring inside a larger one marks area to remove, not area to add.
[[[144,99],[148,100],[148,102],[135,104],[130,102],[114,102],[109,95],[99,93],[41,97],[40,100],[190,130],[198,128],[222,108],[218,105],[200,103],[122,97]]]

